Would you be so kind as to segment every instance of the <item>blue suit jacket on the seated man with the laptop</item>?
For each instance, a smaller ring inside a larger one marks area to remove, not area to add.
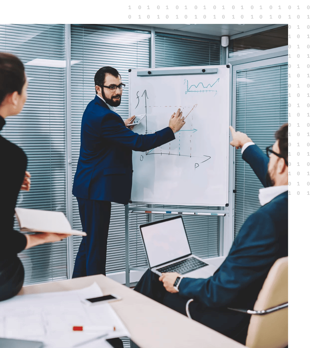
[[[262,184],[269,159],[250,145],[242,154]],[[288,192],[260,207],[243,223],[222,265],[208,279],[184,278],[179,294],[209,307],[253,309],[268,271],[288,256]]]

